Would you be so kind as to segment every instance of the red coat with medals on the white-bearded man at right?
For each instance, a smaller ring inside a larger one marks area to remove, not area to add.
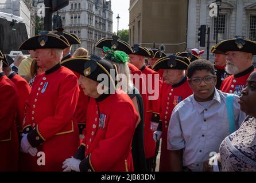
[[[254,66],[251,66],[242,73],[230,75],[230,77],[224,79],[224,81],[222,82],[222,86],[220,86],[220,90],[225,93],[234,93],[240,96],[242,90],[246,86],[246,81],[249,78],[249,75],[254,70]]]

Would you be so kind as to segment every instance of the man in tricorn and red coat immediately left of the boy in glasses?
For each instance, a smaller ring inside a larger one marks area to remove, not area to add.
[[[187,70],[190,61],[187,57],[170,55],[160,58],[153,66],[154,70],[163,69],[165,82],[162,84],[160,124],[153,134],[155,141],[162,138],[159,171],[170,171],[170,154],[167,149],[167,131],[173,108],[182,100],[193,94],[188,84]]]

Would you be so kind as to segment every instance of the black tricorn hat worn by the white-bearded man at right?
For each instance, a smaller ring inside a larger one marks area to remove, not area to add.
[[[227,51],[243,51],[256,55],[256,42],[247,38],[236,36],[235,38],[219,42],[217,45],[215,45],[214,49],[223,51],[225,53]]]

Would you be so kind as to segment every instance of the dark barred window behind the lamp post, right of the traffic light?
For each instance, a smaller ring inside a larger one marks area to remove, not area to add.
[[[226,22],[225,14],[219,14],[219,23],[217,22],[217,17],[214,17],[214,40],[216,40],[217,23],[219,24],[218,41],[226,39]]]

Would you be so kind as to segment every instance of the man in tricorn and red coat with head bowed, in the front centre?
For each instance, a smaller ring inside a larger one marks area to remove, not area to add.
[[[114,65],[96,56],[61,64],[81,74],[79,85],[91,97],[85,138],[75,156],[63,162],[64,171],[133,171],[131,142],[138,114],[130,97],[115,89]]]

